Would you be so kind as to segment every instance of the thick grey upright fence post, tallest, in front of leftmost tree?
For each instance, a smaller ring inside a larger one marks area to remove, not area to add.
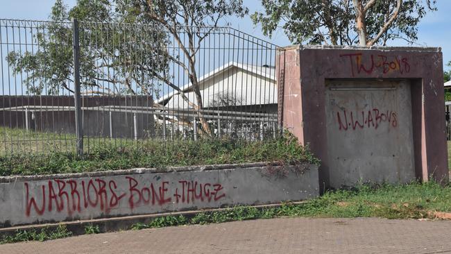
[[[77,154],[83,156],[83,115],[80,103],[80,42],[78,40],[78,20],[72,18],[72,44],[74,46],[74,105]]]

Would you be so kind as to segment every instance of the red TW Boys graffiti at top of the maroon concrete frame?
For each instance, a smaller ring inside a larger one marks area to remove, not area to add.
[[[407,58],[398,56],[389,57],[385,55],[371,55],[369,59],[364,60],[362,53],[342,54],[341,58],[348,58],[352,76],[357,74],[373,74],[375,71],[382,71],[387,74],[391,71],[398,71],[400,74],[410,72],[410,64]]]

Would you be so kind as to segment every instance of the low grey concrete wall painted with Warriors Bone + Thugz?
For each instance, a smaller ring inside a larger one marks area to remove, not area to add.
[[[300,201],[318,194],[313,164],[9,176],[0,178],[0,226]]]

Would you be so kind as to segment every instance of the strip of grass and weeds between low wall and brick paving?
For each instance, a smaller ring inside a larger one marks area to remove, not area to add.
[[[382,217],[387,219],[434,219],[429,212],[451,212],[451,186],[438,183],[409,185],[361,185],[352,190],[326,192],[303,204],[284,203],[280,207],[262,208],[240,206],[214,212],[200,212],[194,217],[183,215],[157,217],[149,223],[135,223],[130,229],[161,228],[193,224],[222,223],[249,219],[279,217],[355,218]],[[85,226],[85,234],[99,233],[99,226]],[[44,241],[68,237],[63,226],[55,232],[44,229],[19,230],[14,236],[3,237],[1,244],[22,241]]]

